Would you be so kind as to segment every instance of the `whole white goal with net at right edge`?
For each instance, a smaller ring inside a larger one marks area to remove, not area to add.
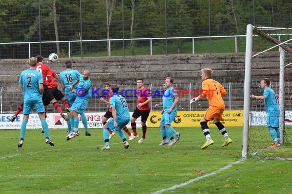
[[[292,29],[247,25],[245,60],[242,157],[292,160]]]

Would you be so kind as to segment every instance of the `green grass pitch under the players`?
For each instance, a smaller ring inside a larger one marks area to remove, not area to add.
[[[291,162],[241,157],[242,128],[227,128],[233,142],[211,128],[214,144],[201,150],[200,128],[181,132],[174,146],[158,146],[158,128],[149,128],[142,144],[130,148],[116,134],[111,150],[103,146],[102,130],[91,137],[66,141],[66,130],[50,130],[55,147],[45,143],[40,130],[27,130],[23,148],[17,148],[19,130],[0,130],[1,193],[292,193]],[[97,149],[98,148],[98,149]],[[174,189],[171,189],[174,188]]]

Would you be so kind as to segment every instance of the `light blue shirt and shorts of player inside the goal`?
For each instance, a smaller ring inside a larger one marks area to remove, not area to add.
[[[264,89],[265,107],[267,113],[267,126],[279,127],[280,109],[277,102],[275,91],[267,87]]]

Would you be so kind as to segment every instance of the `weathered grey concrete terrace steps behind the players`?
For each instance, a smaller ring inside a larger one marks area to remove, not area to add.
[[[45,59],[45,61],[48,59]],[[166,77],[175,78],[176,83],[200,82],[202,68],[212,68],[213,77],[220,82],[243,82],[245,54],[221,55],[170,55],[141,57],[61,58],[57,63],[47,63],[57,73],[64,70],[70,60],[74,68],[82,72],[91,70],[93,84],[108,81],[116,84],[131,84],[141,77],[146,84],[161,83]],[[27,68],[25,60],[0,61],[0,83],[17,86],[20,72]],[[262,55],[253,63],[253,75],[273,78],[279,74],[279,57]],[[290,69],[289,69],[290,72]],[[287,74],[289,73],[287,72]]]

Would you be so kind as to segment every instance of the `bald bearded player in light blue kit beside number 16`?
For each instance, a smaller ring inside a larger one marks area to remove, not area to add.
[[[73,126],[73,131],[67,135],[67,140],[74,138],[79,135],[79,118],[78,114],[82,115],[87,108],[88,101],[91,98],[91,81],[90,81],[90,71],[85,70],[83,75],[76,80],[69,89],[72,93],[75,93],[76,99],[71,105],[70,110],[70,124]],[[77,84],[77,89],[73,89],[74,85]]]

